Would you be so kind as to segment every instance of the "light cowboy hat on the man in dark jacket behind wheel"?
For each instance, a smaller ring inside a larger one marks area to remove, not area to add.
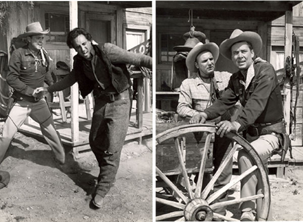
[[[252,49],[255,51],[255,55],[262,49],[262,38],[258,33],[250,31],[243,32],[240,29],[235,29],[230,37],[220,44],[220,53],[226,59],[231,60],[231,46],[240,41],[250,42]]]

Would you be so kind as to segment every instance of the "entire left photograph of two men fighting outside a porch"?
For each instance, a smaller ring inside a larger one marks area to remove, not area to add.
[[[152,221],[152,17],[0,2],[0,221]]]

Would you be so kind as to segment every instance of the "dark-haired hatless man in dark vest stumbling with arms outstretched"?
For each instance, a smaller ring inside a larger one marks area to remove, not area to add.
[[[100,173],[92,203],[99,208],[115,182],[129,124],[132,96],[126,64],[151,69],[152,59],[111,43],[98,45],[82,28],[68,33],[67,44],[77,51],[73,71],[63,80],[39,90],[61,91],[78,82],[83,97],[93,91],[95,106],[89,144]]]

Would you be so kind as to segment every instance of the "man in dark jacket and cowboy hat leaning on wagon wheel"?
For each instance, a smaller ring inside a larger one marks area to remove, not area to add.
[[[241,132],[258,152],[266,165],[272,152],[280,149],[281,135],[285,133],[282,96],[273,66],[269,63],[254,63],[254,57],[262,48],[262,39],[256,32],[236,29],[229,39],[220,45],[221,54],[234,62],[239,71],[231,76],[221,98],[196,116],[191,123],[204,123],[225,113],[237,100],[243,110],[234,122],[222,121],[217,134]],[[238,154],[239,172],[242,174],[254,165],[248,153],[241,149]],[[241,198],[262,192],[258,172],[241,181]],[[240,206],[241,220],[255,220],[258,206],[255,201],[243,202]],[[258,214],[257,214],[258,216]],[[258,218],[257,218],[258,219]]]

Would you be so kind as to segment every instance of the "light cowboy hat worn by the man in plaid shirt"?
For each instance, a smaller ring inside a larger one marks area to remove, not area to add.
[[[197,72],[198,69],[195,67],[194,62],[197,55],[202,51],[210,51],[213,54],[215,63],[219,58],[219,46],[215,42],[209,42],[203,44],[198,42],[193,49],[191,49],[186,58],[186,67],[190,72]]]

